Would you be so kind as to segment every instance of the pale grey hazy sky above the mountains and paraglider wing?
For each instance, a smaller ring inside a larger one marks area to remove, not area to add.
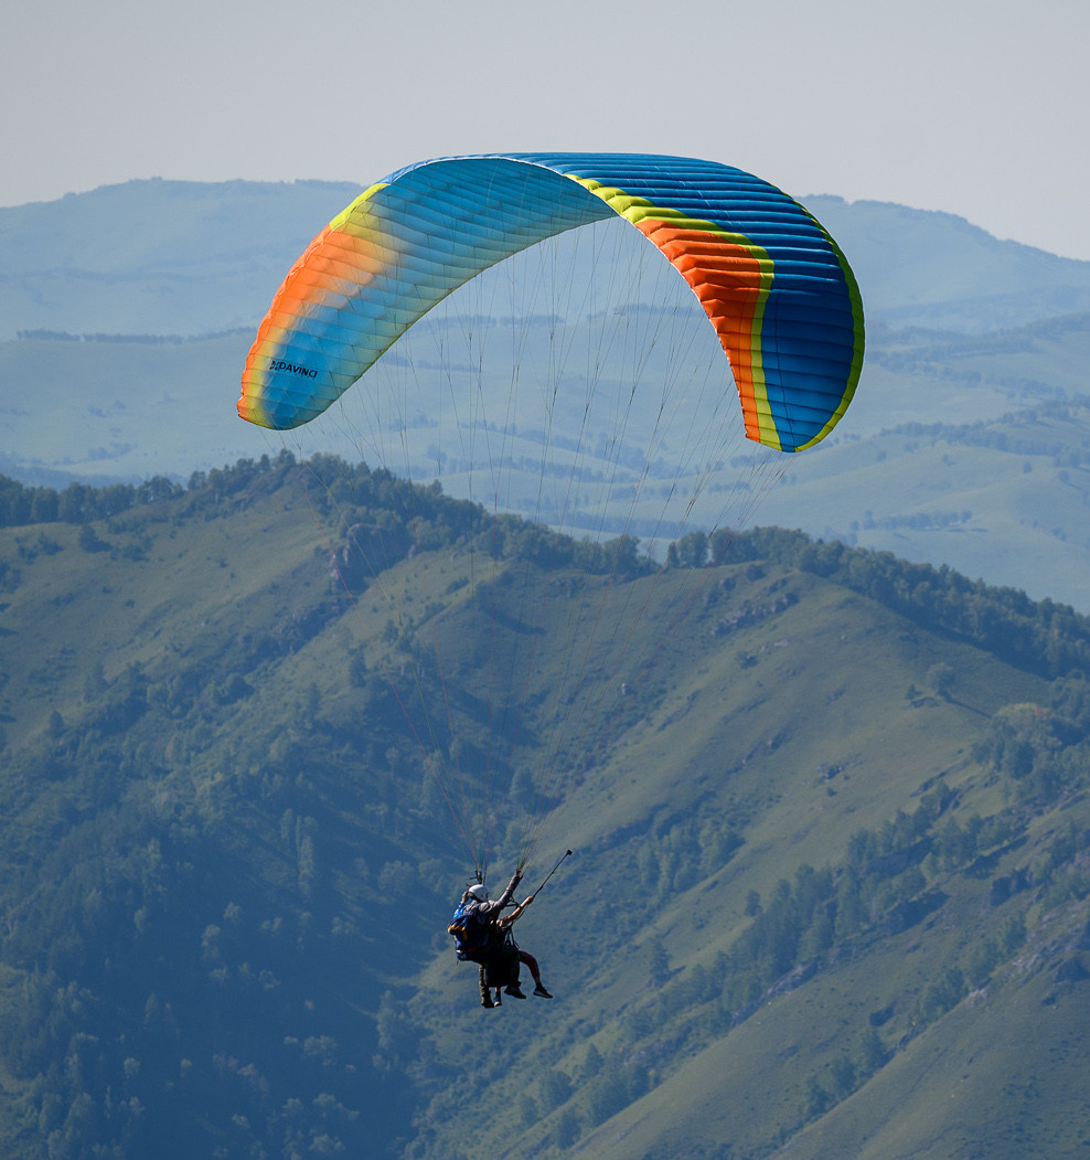
[[[1090,259],[1087,0],[14,0],[0,43],[2,205],[670,152]]]

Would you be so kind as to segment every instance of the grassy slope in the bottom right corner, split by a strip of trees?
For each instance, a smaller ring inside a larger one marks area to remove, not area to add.
[[[892,994],[922,987],[942,962],[942,937],[913,931],[778,996],[598,1129],[584,1154],[660,1157],[673,1146],[688,1155],[766,1154],[770,1124],[797,1119],[807,1075],[850,1046]],[[1084,992],[1058,986],[1044,967],[1004,979],[909,1042],[785,1154],[1082,1155],[1088,1100],[1073,1079],[1085,1068],[1087,1023]]]

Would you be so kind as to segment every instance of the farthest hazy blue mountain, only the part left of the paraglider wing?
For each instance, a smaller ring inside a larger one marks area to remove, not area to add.
[[[320,181],[151,180],[0,209],[0,340],[252,326],[357,193]]]

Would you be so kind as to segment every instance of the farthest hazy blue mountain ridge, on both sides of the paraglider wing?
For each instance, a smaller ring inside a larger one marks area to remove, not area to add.
[[[0,209],[0,341],[254,326],[291,262],[358,193],[151,180]],[[848,255],[871,322],[981,333],[1090,311],[1090,262],[1000,241],[950,213],[802,201]]]

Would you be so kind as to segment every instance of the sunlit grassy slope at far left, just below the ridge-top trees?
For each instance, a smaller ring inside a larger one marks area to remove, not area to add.
[[[247,501],[230,530],[224,521],[159,523],[158,514],[146,509],[123,519],[118,527],[126,531],[99,524],[112,551],[80,551],[78,529],[67,524],[0,534],[0,558],[21,574],[3,599],[5,623],[17,625],[5,636],[10,680],[0,695],[13,745],[41,732],[53,709],[78,719],[97,665],[108,681],[133,662],[162,677],[174,655],[192,661],[225,637],[267,630],[270,618],[290,616],[293,601],[320,582],[312,575],[300,581],[300,593],[271,595],[320,544],[301,494]],[[60,551],[42,551],[43,539]],[[145,542],[145,558],[119,568],[115,553]]]

